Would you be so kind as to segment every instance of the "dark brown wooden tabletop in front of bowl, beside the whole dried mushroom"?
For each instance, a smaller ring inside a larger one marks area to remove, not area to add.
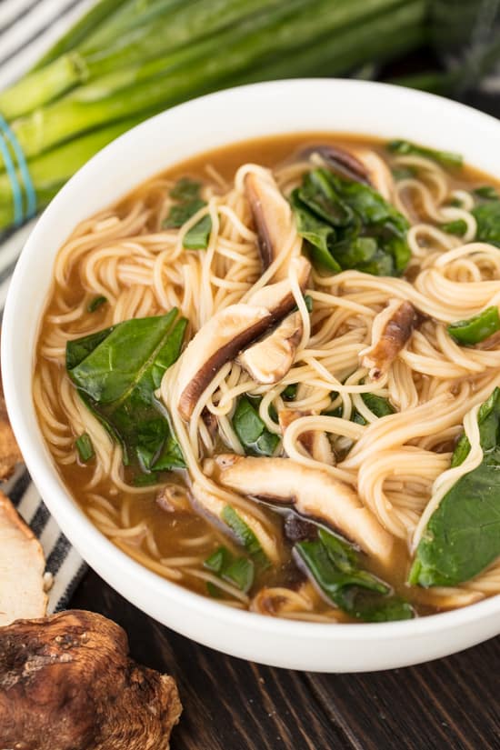
[[[500,637],[425,665],[317,675],[197,645],[94,572],[71,606],[111,617],[137,661],[175,676],[185,710],[172,750],[500,750]]]

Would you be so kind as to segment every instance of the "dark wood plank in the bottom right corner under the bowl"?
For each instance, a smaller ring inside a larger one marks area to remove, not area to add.
[[[308,675],[353,746],[500,748],[500,638],[425,665],[365,675]]]

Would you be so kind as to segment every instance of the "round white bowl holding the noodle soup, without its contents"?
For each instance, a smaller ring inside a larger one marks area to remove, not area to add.
[[[29,237],[5,307],[5,397],[26,465],[65,535],[120,594],[175,631],[227,654],[323,672],[399,667],[451,654],[500,632],[500,596],[443,615],[376,625],[317,625],[239,612],[165,581],[112,545],[68,495],[37,424],[32,371],[55,255],[82,219],[159,170],[260,135],[331,131],[407,138],[458,151],[500,175],[500,124],[409,89],[350,80],[251,85],[205,96],[108,145],[55,197]]]

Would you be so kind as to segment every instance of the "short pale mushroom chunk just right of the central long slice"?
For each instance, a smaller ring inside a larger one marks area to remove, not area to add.
[[[273,385],[294,364],[303,331],[302,315],[292,313],[265,338],[245,349],[237,362],[257,383]]]

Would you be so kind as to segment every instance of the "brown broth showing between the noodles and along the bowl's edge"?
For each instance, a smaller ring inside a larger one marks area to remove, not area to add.
[[[205,165],[209,164],[213,165],[217,172],[225,177],[225,179],[230,180],[234,176],[236,168],[245,162],[255,162],[265,166],[279,165],[285,161],[291,161],[292,156],[302,148],[308,145],[320,143],[335,143],[335,145],[345,146],[347,148],[349,145],[365,145],[369,146],[387,159],[384,145],[380,141],[375,141],[373,138],[354,138],[345,134],[333,135],[331,133],[301,133],[294,135],[277,135],[227,145],[201,155],[196,155],[185,162],[170,167],[162,173],[162,176],[176,179],[180,176],[190,175],[206,181],[207,175],[205,172]],[[492,180],[489,175],[484,175],[471,167],[462,169],[459,174],[457,172],[448,172],[448,175],[451,176],[452,185],[456,188],[466,188],[470,190],[478,185],[492,183],[498,185],[498,183],[495,180]],[[126,209],[134,201],[135,192],[126,195],[115,206],[117,215],[125,214]],[[85,295],[88,295],[88,292],[85,291],[75,273],[70,275],[68,282],[73,293],[70,300],[71,305],[76,306],[82,301]],[[55,288],[53,289],[53,293],[54,291]],[[47,301],[45,317],[40,328],[35,368],[38,366],[41,358],[41,343],[48,335],[50,335],[52,326],[54,326],[53,323],[48,322],[46,319],[47,315],[55,314],[56,312],[53,293],[51,293],[50,298]],[[104,318],[105,309],[102,308],[96,310],[95,313],[92,314],[90,322],[86,319],[82,319],[81,325],[77,326],[77,332],[80,335],[85,335],[90,329],[90,326],[95,330],[96,324],[99,323],[99,321],[104,321]],[[52,362],[51,368],[54,373],[59,367],[60,365]],[[66,377],[67,375],[64,376]],[[61,407],[57,410],[57,407],[55,406],[54,411],[56,419],[65,421],[65,415]],[[76,436],[77,435],[75,435],[75,437]],[[82,505],[85,511],[88,511],[87,501],[85,500],[84,493],[82,493],[82,487],[90,481],[94,470],[93,465],[80,463],[66,465],[58,463],[57,461],[55,463],[60,475],[62,475],[64,479],[65,485],[75,497],[75,500]],[[183,482],[182,471],[175,472],[174,481]],[[199,553],[200,555],[205,555],[205,557],[207,557],[221,544],[232,548],[234,552],[237,553],[237,547],[235,547],[235,545],[213,525],[209,524],[203,516],[196,515],[192,512],[169,513],[163,510],[155,502],[155,491],[140,496],[117,493],[109,481],[104,481],[100,485],[97,485],[93,491],[97,494],[103,495],[118,513],[123,513],[124,505],[126,505],[129,512],[129,525],[140,524],[141,522],[150,525],[150,527],[154,529],[155,543],[162,558],[168,559],[177,555],[189,555],[189,547],[181,543],[185,540],[194,539],[200,535],[207,535],[207,539],[204,545],[196,547],[197,554]],[[276,531],[281,533],[283,515],[276,514],[265,505],[261,505],[261,509],[275,526]],[[283,565],[277,569],[268,570],[260,575],[256,582],[254,591],[258,590],[261,585],[296,586],[299,582],[304,580],[304,575],[297,570],[291,559],[291,546],[292,545],[287,542],[284,537],[285,555]],[[141,547],[141,549],[144,553],[144,548]],[[388,582],[393,585],[397,593],[404,595],[407,599],[413,602],[418,614],[427,615],[439,611],[435,607],[420,604],[418,592],[405,584],[410,564],[406,545],[398,541],[396,542],[395,549],[395,565],[390,575],[387,575],[386,571],[380,570],[377,565],[367,557],[365,557],[365,567],[377,575],[383,575],[385,580],[388,580]],[[132,548],[129,551],[133,551]],[[185,582],[183,585],[185,585]],[[206,595],[204,581],[192,578],[190,579],[188,587],[200,594]],[[326,611],[329,608],[329,605],[321,602],[317,607],[317,611]],[[345,621],[349,621],[349,618],[346,616],[344,619]]]

